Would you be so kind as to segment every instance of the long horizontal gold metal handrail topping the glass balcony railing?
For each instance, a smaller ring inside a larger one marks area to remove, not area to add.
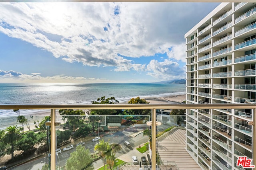
[[[6,104],[0,109],[256,109],[256,104]]]

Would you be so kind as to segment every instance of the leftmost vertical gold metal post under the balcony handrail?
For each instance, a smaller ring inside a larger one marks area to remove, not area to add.
[[[55,170],[56,169],[56,154],[55,154],[55,150],[56,150],[56,127],[55,127],[55,109],[51,109],[51,165],[50,168],[51,170]]]

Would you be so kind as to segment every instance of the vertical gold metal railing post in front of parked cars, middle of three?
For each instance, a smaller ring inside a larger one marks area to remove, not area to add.
[[[152,170],[156,170],[156,109],[152,109]]]

